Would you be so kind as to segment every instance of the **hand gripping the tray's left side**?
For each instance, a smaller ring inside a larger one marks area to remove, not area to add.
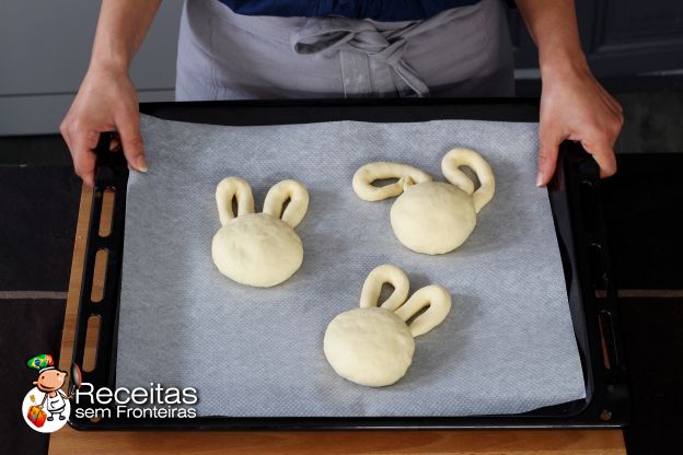
[[[128,165],[147,172],[138,97],[124,70],[90,68],[59,130],[71,151],[76,173],[91,187],[95,183],[94,149],[104,131],[116,130]]]

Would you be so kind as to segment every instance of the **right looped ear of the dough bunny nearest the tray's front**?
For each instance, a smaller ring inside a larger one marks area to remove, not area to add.
[[[414,337],[418,337],[441,324],[451,311],[451,294],[449,294],[445,288],[430,284],[418,290],[394,314],[407,322],[428,305],[427,311],[413,319],[408,325],[410,334]]]

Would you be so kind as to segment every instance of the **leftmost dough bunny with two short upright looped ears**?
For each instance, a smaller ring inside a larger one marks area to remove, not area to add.
[[[250,184],[228,177],[216,188],[216,202],[222,228],[213,236],[211,256],[221,273],[243,284],[269,288],[299,270],[303,245],[293,228],[309,207],[309,191],[303,185],[297,180],[276,184],[266,195],[263,213],[254,213]]]

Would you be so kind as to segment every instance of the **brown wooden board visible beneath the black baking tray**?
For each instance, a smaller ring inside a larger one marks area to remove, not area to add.
[[[81,196],[60,366],[69,371],[92,191]],[[95,278],[96,279],[96,278]],[[366,432],[79,432],[50,436],[57,454],[626,454],[621,430]]]

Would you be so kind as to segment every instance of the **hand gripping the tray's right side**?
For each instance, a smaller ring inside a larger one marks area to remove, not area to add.
[[[581,145],[600,166],[600,176],[616,172],[614,142],[622,130],[622,106],[593,78],[588,65],[542,70],[539,126],[537,186],[547,185],[555,172],[557,150],[569,139]]]

